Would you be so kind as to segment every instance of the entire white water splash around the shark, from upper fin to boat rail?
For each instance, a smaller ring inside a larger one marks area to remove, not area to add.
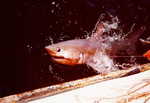
[[[97,50],[95,55],[92,57],[92,59],[87,63],[89,66],[91,66],[93,69],[95,69],[98,73],[108,73],[112,71],[116,71],[119,69],[127,69],[129,67],[136,67],[137,63],[135,56],[130,56],[130,55],[111,55],[110,52],[113,49],[115,53],[119,50],[118,47],[113,48],[114,43],[117,42],[119,46],[124,46],[122,45],[123,41],[127,39],[126,37],[128,36],[127,34],[124,35],[122,33],[122,29],[118,27],[119,25],[119,20],[117,17],[111,16],[111,21],[105,21],[102,23],[105,26],[105,33],[107,35],[102,35],[100,37],[100,40],[98,41],[98,44],[101,46],[100,49]],[[111,32],[112,30],[120,30],[119,33],[117,32]],[[116,45],[117,46],[117,45]],[[134,46],[134,45],[133,45]],[[133,47],[135,48],[135,47]],[[126,51],[125,51],[126,52]],[[128,52],[128,51],[127,51]],[[118,63],[114,60],[114,58],[122,58],[122,59],[127,59],[127,63]]]

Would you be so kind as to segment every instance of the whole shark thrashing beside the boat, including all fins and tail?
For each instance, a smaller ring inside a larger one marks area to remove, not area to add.
[[[115,23],[107,24],[98,20],[90,37],[50,44],[45,49],[52,60],[57,63],[70,66],[87,64],[98,73],[110,72],[113,70],[112,57],[117,56],[119,50],[132,54],[135,49],[131,45],[135,45],[145,31],[145,27],[142,26],[136,31],[131,31],[126,39],[121,40],[104,36],[105,32],[116,27]],[[96,65],[97,62],[105,66]],[[111,69],[106,69],[108,67]]]

